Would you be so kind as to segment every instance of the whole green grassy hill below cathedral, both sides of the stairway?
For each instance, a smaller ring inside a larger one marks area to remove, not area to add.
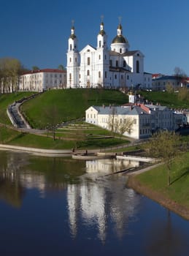
[[[109,148],[128,143],[126,138],[120,138],[120,136],[113,138],[111,132],[91,124],[71,124],[63,127],[63,129],[57,129],[55,140],[53,140],[53,133],[50,131],[41,135],[34,135],[12,129],[7,125],[10,124],[6,113],[7,106],[31,94],[33,93],[3,94],[0,96],[0,143],[54,149]],[[52,121],[52,118],[55,124],[82,118],[90,105],[120,105],[126,102],[128,102],[128,97],[119,91],[52,90],[25,102],[22,109],[33,127],[44,128],[47,127],[47,123]]]

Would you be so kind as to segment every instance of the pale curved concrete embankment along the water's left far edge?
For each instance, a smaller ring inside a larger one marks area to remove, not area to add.
[[[44,156],[57,156],[61,157],[66,154],[72,154],[72,150],[61,150],[61,149],[44,149],[44,148],[28,148],[22,146],[13,146],[13,145],[4,145],[0,144],[0,150],[9,150],[9,151],[24,151],[33,154],[40,154]]]

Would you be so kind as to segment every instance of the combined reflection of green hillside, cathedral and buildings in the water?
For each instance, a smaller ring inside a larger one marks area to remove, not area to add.
[[[27,189],[37,189],[40,197],[45,197],[50,189],[66,189],[73,238],[77,236],[80,218],[83,225],[98,228],[101,241],[106,239],[110,221],[115,225],[117,236],[123,236],[123,228],[134,214],[138,197],[132,189],[126,189],[126,176],[108,178],[106,175],[139,163],[99,159],[77,161],[74,165],[72,159],[12,152],[2,152],[0,157],[0,197],[7,203],[20,207]]]

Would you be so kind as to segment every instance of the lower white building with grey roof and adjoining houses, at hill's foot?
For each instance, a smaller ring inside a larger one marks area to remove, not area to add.
[[[176,130],[182,116],[161,105],[91,106],[85,110],[86,122],[109,130],[113,127],[118,133],[128,120],[132,121],[131,129],[123,135],[135,139],[150,137],[159,129]]]

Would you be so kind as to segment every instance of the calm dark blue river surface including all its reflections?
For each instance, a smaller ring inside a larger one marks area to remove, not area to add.
[[[126,167],[0,151],[0,255],[189,255],[189,222],[111,174]]]

